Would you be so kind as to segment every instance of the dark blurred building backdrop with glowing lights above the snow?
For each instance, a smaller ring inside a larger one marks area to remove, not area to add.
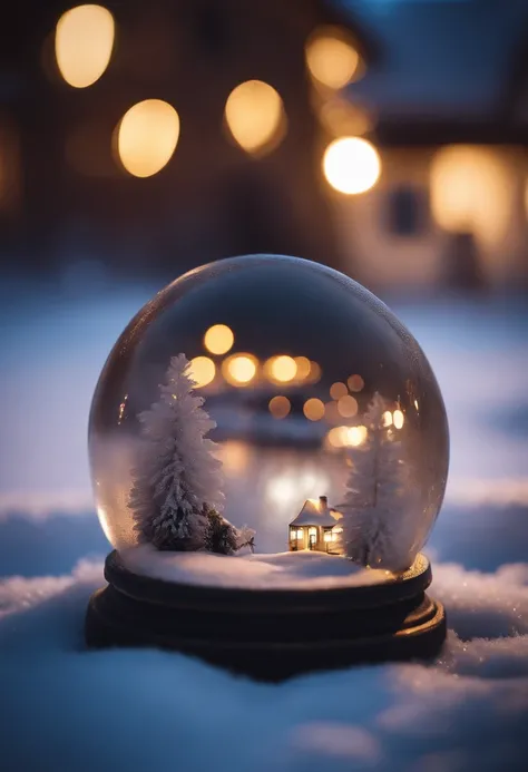
[[[374,289],[526,282],[521,0],[29,0],[9,20],[11,265],[170,277],[278,252]]]

